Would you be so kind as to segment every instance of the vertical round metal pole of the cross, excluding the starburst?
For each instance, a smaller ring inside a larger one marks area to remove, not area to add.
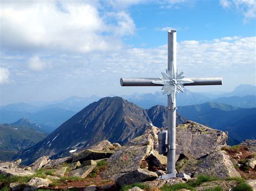
[[[176,72],[176,31],[168,31],[168,70],[173,69]],[[176,96],[176,95],[175,95]],[[175,154],[176,154],[176,97],[174,97],[174,102],[171,101],[171,95],[168,96],[168,115],[167,115],[167,125],[168,125],[168,142],[167,142],[167,175],[168,178],[176,177],[175,172]]]

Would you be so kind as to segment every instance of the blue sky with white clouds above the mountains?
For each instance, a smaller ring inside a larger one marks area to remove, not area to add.
[[[255,0],[0,0],[0,105],[159,91],[119,79],[161,77],[168,30],[186,77],[223,77],[188,90],[255,86],[255,17]]]

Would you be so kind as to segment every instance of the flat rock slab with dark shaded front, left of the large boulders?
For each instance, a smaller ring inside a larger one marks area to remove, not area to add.
[[[114,151],[98,151],[98,150],[84,150],[80,151],[78,153],[74,153],[72,158],[72,162],[80,161],[83,162],[85,160],[98,160],[98,159],[104,159],[109,158]]]

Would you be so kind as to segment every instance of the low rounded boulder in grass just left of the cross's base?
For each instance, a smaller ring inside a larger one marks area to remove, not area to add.
[[[120,176],[116,183],[119,186],[124,185],[131,185],[132,183],[136,182],[144,182],[149,180],[157,179],[158,175],[154,172],[148,171],[144,168],[138,168],[135,171],[131,171],[129,173],[125,173],[122,176]]]

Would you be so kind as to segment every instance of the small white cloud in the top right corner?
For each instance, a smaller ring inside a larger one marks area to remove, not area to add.
[[[256,17],[255,0],[220,0],[220,5],[227,9],[237,9],[246,19]]]

